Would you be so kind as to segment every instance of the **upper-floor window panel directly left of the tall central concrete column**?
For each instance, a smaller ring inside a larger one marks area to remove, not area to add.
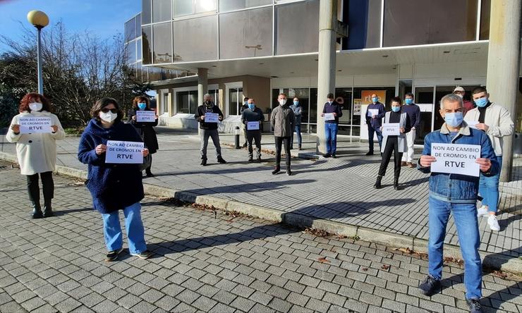
[[[319,0],[276,6],[276,54],[317,52]]]

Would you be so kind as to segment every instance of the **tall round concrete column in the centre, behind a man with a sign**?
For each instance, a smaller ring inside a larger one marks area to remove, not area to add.
[[[337,0],[319,3],[319,67],[317,69],[317,153],[326,153],[324,119],[321,118],[329,92],[335,93]]]

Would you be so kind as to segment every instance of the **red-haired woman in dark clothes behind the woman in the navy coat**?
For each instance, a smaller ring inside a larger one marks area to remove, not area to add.
[[[158,116],[154,114],[155,121],[154,122],[138,122],[137,111],[154,111],[154,109],[150,109],[149,98],[144,96],[135,97],[133,100],[133,109],[128,113],[128,121],[134,125],[134,127],[140,133],[143,142],[145,142],[145,147],[149,149],[150,153],[150,165],[145,169],[145,173],[147,173],[147,177],[152,177],[152,172],[150,171],[150,167],[152,166],[152,154],[156,153],[159,149],[158,146],[158,138],[156,137],[156,131],[154,130],[154,126],[158,125]]]

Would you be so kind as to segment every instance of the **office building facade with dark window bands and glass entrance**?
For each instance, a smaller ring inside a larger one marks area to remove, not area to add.
[[[337,17],[348,27],[337,39],[332,90],[344,106],[339,134],[368,138],[361,114],[372,93],[387,106],[395,95],[415,94],[418,143],[438,129],[444,94],[459,85],[469,99],[474,87],[486,85],[491,5],[339,0]],[[315,133],[319,6],[320,0],[142,0],[142,12],[126,23],[128,61],[154,85],[163,125],[196,127],[190,118],[205,74],[225,123],[237,123],[243,97],[269,113],[285,92],[301,100],[303,131]],[[521,98],[519,90],[519,132]]]

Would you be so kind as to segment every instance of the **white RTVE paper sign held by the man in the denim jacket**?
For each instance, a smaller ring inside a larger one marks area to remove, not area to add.
[[[480,145],[432,143],[432,156],[437,159],[431,165],[432,172],[480,176],[480,166],[475,163],[480,158]]]

